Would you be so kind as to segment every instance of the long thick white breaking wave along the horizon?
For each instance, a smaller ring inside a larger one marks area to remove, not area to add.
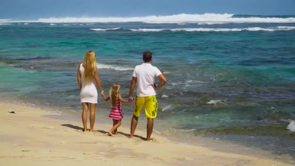
[[[295,17],[232,17],[232,14],[179,14],[170,16],[145,17],[49,17],[37,20],[3,19],[0,22],[44,22],[44,23],[95,23],[95,22],[146,22],[146,23],[189,23],[189,22],[263,22],[263,23],[294,23]]]

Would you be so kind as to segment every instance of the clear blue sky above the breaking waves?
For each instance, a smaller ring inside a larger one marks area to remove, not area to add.
[[[0,18],[295,15],[295,0],[0,0]]]

